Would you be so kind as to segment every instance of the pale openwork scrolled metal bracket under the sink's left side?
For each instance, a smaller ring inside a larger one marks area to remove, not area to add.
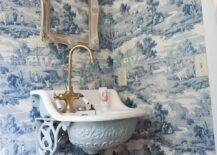
[[[40,155],[53,155],[61,139],[60,130],[66,131],[70,122],[58,122],[50,118],[36,120],[37,151]]]

